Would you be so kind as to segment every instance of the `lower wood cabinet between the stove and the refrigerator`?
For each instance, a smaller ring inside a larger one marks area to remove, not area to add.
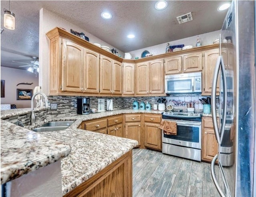
[[[212,117],[202,117],[202,160],[211,162],[218,153]]]

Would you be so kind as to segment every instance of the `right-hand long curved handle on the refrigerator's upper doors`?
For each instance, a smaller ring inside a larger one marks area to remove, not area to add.
[[[222,83],[223,83],[223,115],[222,115],[222,124],[220,128],[220,144],[222,143],[225,124],[226,124],[226,115],[227,115],[227,81],[226,81],[226,71],[223,57],[221,56],[221,73],[222,73]]]

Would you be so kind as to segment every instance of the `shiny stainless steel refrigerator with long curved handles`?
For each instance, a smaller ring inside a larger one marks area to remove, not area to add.
[[[227,43],[220,44],[214,70],[211,107],[218,154],[211,173],[222,197],[256,197],[254,4],[232,1],[220,35]]]

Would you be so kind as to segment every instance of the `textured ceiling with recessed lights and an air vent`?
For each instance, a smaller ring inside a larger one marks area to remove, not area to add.
[[[15,30],[4,28],[4,11],[9,1],[1,0],[1,66],[18,67],[14,63],[30,63],[38,57],[39,10],[45,8],[79,26],[123,52],[185,37],[220,30],[226,11],[218,12],[220,4],[228,1],[167,1],[165,10],[156,10],[157,1],[10,1],[15,13]],[[112,19],[100,14],[110,11]],[[179,25],[177,16],[192,12],[193,20]],[[128,39],[134,33],[134,39]]]

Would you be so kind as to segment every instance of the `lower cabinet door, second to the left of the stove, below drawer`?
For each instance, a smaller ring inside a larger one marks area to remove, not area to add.
[[[125,128],[125,138],[137,140],[138,146],[141,145],[140,138],[140,122],[126,122],[124,125]]]

